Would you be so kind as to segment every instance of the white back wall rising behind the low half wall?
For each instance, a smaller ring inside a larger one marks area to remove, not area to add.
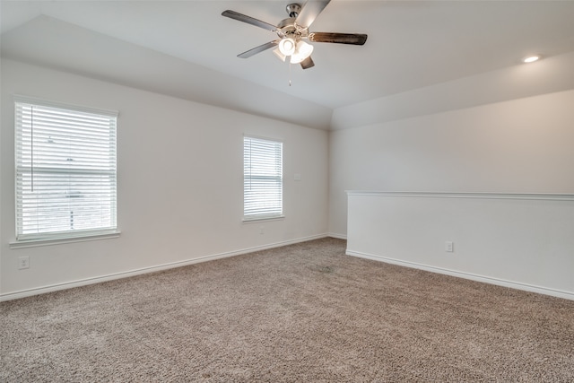
[[[332,132],[329,231],[345,190],[574,193],[574,91]]]

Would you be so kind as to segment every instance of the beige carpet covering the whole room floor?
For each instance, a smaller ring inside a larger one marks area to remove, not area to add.
[[[0,304],[2,382],[574,381],[574,301],[319,239]]]

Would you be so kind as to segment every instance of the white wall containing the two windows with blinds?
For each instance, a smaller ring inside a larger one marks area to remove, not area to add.
[[[326,131],[6,59],[1,80],[0,298],[326,235]],[[119,110],[120,238],[9,247],[14,93]],[[284,220],[241,222],[244,134],[283,140]],[[22,256],[30,257],[29,269],[17,269]]]

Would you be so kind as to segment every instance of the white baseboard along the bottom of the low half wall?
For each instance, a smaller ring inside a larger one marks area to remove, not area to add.
[[[470,279],[472,281],[477,281],[477,282],[496,284],[498,286],[509,287],[512,289],[523,290],[526,292],[536,292],[539,294],[551,295],[552,297],[564,298],[567,300],[574,300],[574,292],[564,292],[561,290],[550,289],[550,288],[542,287],[542,286],[535,286],[535,285],[527,284],[527,283],[511,282],[511,281],[506,281],[503,279],[492,278],[490,276],[465,273],[465,272],[449,270],[449,269],[445,269],[442,267],[436,267],[436,266],[431,266],[431,265],[422,265],[422,264],[415,263],[415,262],[403,261],[400,259],[390,258],[390,257],[375,256],[372,254],[361,253],[361,252],[352,251],[349,249],[346,250],[345,254],[348,256],[352,256],[352,257],[372,259],[375,261],[385,262],[388,264],[402,265],[405,267],[411,267],[411,268],[416,268],[416,269],[420,269],[420,270],[430,271],[432,273],[457,276],[459,278]]]

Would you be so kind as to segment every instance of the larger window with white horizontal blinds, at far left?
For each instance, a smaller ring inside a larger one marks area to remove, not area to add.
[[[115,232],[117,112],[14,100],[17,241]]]

